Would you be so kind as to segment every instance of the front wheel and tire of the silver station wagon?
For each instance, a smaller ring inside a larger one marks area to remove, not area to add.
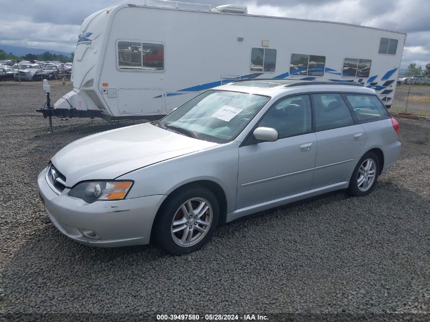
[[[190,204],[197,214],[190,212]],[[153,237],[168,253],[190,253],[208,243],[218,220],[219,204],[212,191],[200,186],[184,189],[170,195],[163,203],[154,222]]]

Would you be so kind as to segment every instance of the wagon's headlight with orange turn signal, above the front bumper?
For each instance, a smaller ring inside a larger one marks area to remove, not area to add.
[[[132,181],[84,181],[69,192],[69,196],[91,203],[96,200],[124,199],[133,185]]]

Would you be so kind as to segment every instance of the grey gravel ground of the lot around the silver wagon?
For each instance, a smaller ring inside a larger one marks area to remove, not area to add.
[[[54,85],[53,101],[70,90]],[[218,228],[203,250],[170,256],[154,246],[91,248],[50,223],[36,187],[50,157],[130,123],[55,119],[48,134],[34,111],[43,103],[39,86],[0,86],[0,318],[430,319],[430,122],[399,120],[402,154],[369,196],[336,192],[255,214]]]

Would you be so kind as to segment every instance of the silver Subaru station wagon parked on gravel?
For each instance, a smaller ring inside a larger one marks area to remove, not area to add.
[[[38,186],[52,223],[79,243],[183,254],[248,214],[339,189],[364,196],[399,152],[398,123],[372,89],[243,80],[70,143]]]

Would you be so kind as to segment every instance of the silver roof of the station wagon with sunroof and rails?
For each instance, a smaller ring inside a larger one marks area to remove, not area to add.
[[[242,92],[271,97],[311,92],[343,92],[375,95],[375,90],[360,83],[308,81],[296,79],[243,79],[215,87],[216,90]]]

